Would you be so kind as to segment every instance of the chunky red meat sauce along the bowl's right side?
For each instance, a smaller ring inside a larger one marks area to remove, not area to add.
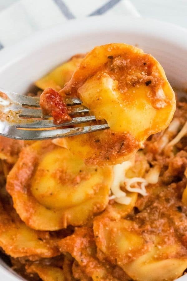
[[[178,102],[174,117],[180,118],[181,125],[184,125],[187,118],[186,103]],[[138,196],[136,207],[127,215],[127,219],[135,221],[145,236],[162,235],[169,245],[173,244],[173,239],[179,240],[184,245],[184,251],[179,256],[183,256],[187,251],[187,206],[181,200],[187,185],[184,175],[187,168],[187,141],[183,140],[185,137],[182,138],[176,145],[178,149],[168,155],[164,149],[159,151],[161,136],[162,133],[151,136],[143,150],[151,166],[161,166],[159,181],[146,187],[148,196]]]

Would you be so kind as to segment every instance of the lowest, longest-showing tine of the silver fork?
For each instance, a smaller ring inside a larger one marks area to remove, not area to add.
[[[1,128],[1,134],[3,136],[12,139],[29,141],[29,140],[44,140],[44,139],[76,136],[76,135],[91,133],[108,128],[109,128],[108,124],[103,124],[103,125],[93,125],[93,126],[85,126],[85,127],[78,127],[78,128],[32,131],[32,130],[17,129],[16,126],[11,126],[11,127],[5,126],[4,131],[2,131]]]

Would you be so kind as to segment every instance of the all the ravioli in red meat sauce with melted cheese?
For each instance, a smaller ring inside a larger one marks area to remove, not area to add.
[[[35,86],[28,95],[40,96],[55,124],[71,120],[65,98],[76,96],[96,116],[90,124],[109,129],[46,141],[0,136],[2,258],[31,281],[185,274],[187,99],[160,63],[108,44]]]

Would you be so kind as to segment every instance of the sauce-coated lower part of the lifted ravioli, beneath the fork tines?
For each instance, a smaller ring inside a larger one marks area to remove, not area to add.
[[[110,129],[54,141],[82,158],[87,165],[98,166],[122,163],[143,147],[130,134],[116,133]]]

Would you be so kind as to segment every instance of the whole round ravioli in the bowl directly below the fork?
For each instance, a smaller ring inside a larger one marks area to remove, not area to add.
[[[22,150],[6,188],[28,226],[57,230],[82,225],[101,212],[112,180],[111,167],[85,165],[51,141],[37,141]]]

